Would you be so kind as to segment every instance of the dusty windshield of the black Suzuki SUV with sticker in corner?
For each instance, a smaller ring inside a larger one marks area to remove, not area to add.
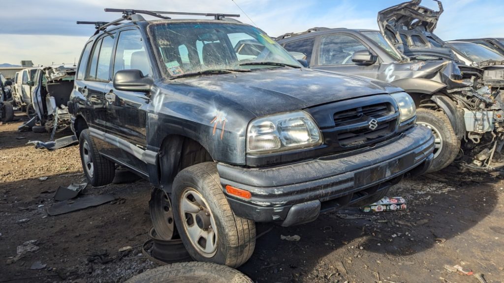
[[[154,44],[170,77],[301,65],[268,35],[229,23],[154,24]]]

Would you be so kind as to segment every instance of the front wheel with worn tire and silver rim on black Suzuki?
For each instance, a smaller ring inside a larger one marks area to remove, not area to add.
[[[180,171],[171,203],[180,238],[195,260],[238,267],[254,252],[256,224],[233,213],[215,163]]]

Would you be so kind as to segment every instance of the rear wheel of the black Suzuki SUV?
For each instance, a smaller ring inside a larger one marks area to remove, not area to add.
[[[79,136],[79,152],[84,174],[93,187],[112,182],[115,174],[114,163],[100,155],[89,129],[83,130]]]

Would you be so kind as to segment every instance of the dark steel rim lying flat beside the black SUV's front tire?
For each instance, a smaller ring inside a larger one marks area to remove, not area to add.
[[[161,261],[160,263],[175,263],[182,261],[191,261],[191,255],[185,249],[182,240],[179,237],[171,240],[163,240],[157,237],[154,228],[149,231],[151,240],[144,244],[144,253],[146,256],[151,256],[146,251],[146,246],[152,242],[151,254],[152,257]]]

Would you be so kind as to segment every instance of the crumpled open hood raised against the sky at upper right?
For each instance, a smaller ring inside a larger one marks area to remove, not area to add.
[[[420,6],[421,0],[412,0],[392,6],[378,12],[378,26],[389,43],[408,57],[429,56],[448,60],[456,60],[452,49],[445,46],[442,39],[433,34],[439,16],[443,13],[443,5],[437,2],[439,11]],[[411,38],[419,36],[426,46],[415,46],[404,43],[401,35]],[[437,42],[442,47],[436,47],[429,40]]]

